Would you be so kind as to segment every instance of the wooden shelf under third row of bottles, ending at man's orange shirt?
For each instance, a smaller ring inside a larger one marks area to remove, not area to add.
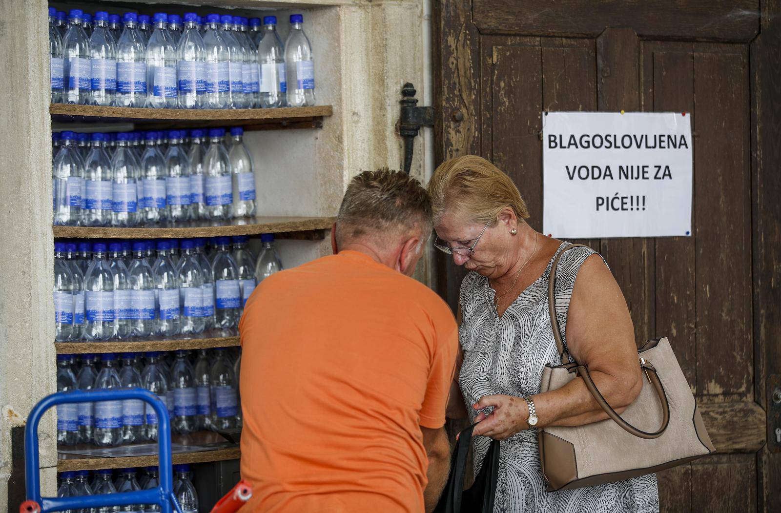
[[[158,340],[109,340],[106,342],[55,342],[57,354],[141,353],[145,351],[178,351],[237,347],[239,337],[159,338]]]

